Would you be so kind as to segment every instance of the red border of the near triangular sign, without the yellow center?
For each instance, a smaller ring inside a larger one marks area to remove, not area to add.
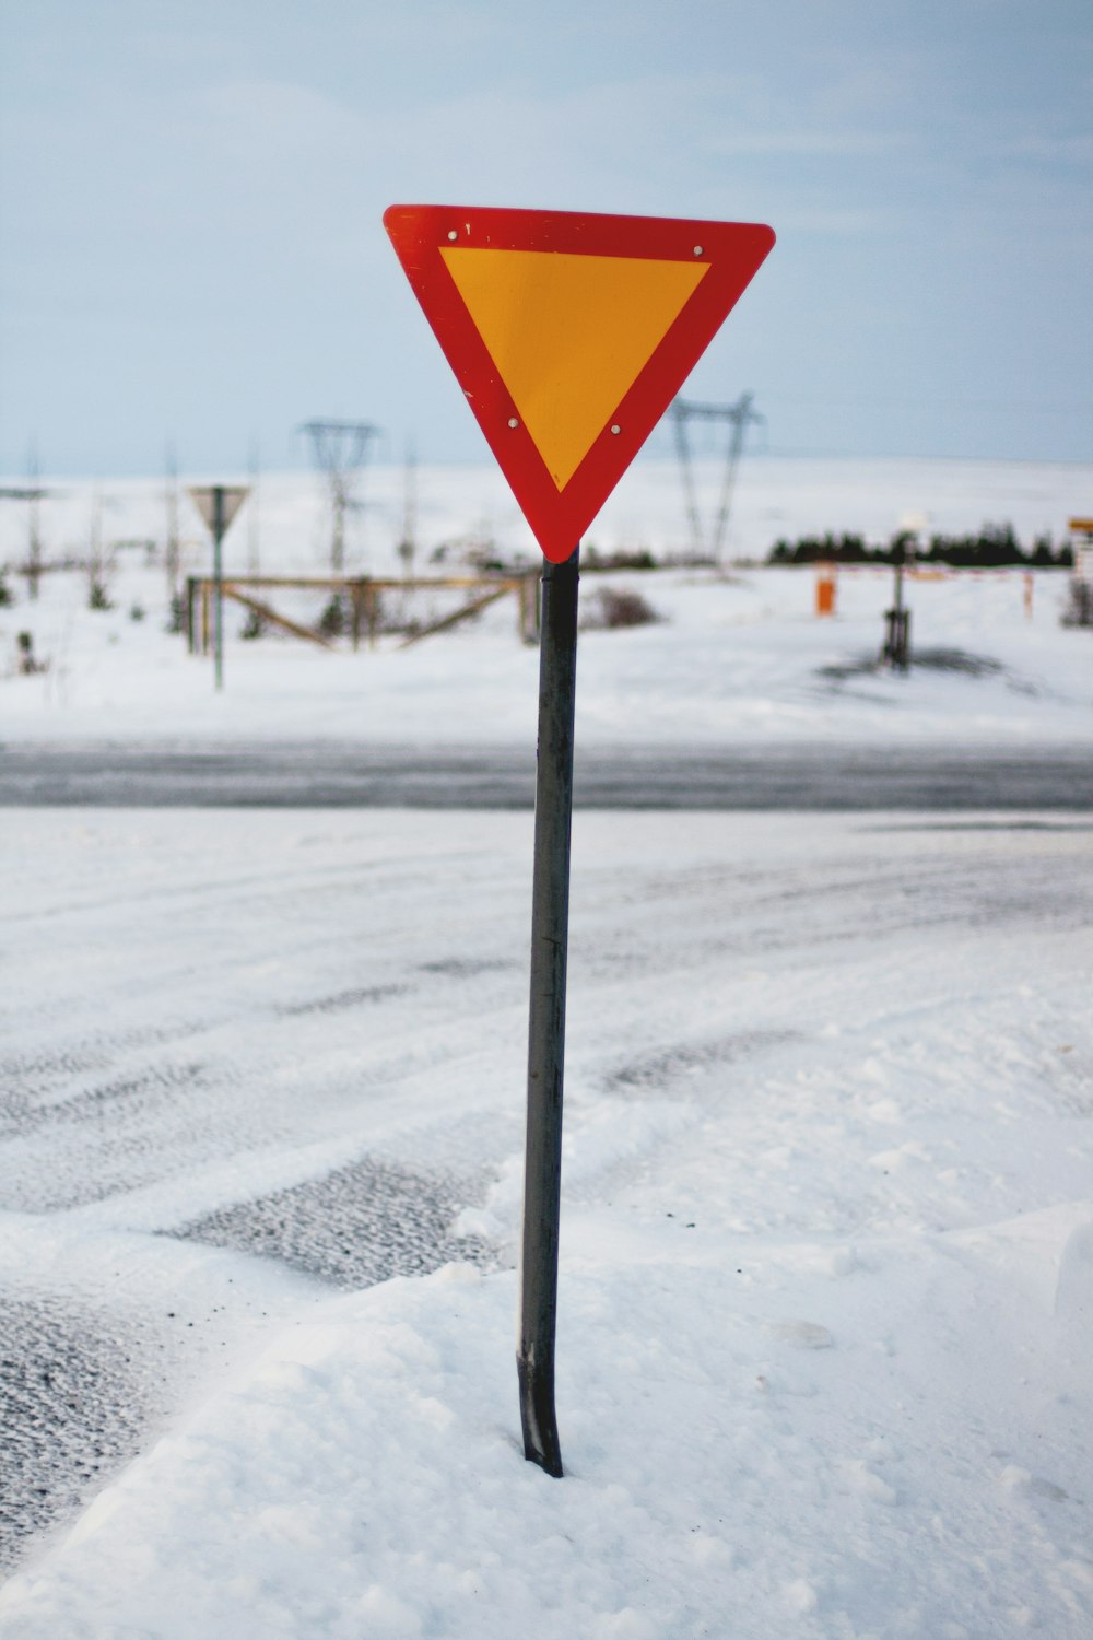
[[[572,556],[775,243],[764,223],[480,205],[390,205],[383,226],[487,444],[552,563]],[[441,251],[449,246],[708,262],[708,272],[564,490],[523,425],[447,271]],[[611,433],[611,425],[621,431]]]

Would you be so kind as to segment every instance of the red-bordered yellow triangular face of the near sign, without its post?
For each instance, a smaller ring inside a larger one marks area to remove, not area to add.
[[[773,244],[752,221],[477,205],[392,205],[383,226],[557,564]]]

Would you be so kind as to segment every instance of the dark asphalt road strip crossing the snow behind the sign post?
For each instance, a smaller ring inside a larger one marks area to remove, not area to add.
[[[1093,809],[1093,746],[577,749],[583,809]],[[0,743],[3,807],[529,809],[534,749]]]

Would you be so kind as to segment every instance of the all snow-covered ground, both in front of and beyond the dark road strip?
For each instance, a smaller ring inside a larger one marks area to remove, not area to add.
[[[401,482],[367,476],[352,569],[397,566]],[[734,551],[911,510],[1059,541],[1091,489],[755,461]],[[418,503],[421,572],[526,544],[485,471]],[[110,610],[79,571],[29,602],[0,512],[0,759],[534,748],[513,599],[356,654],[231,608],[216,695],[164,631],[162,489],[43,503],[46,561],[92,513],[136,543]],[[680,513],[652,462],[593,540],[672,549]],[[310,481],[257,518],[229,571],[321,572]],[[803,569],[610,584],[660,620],[582,633],[593,754],[1093,754],[1059,572],[909,579],[908,676],[890,571],[831,620]],[[1088,1640],[1093,817],[575,815],[560,1483],[515,1369],[531,828],[0,807],[2,1640]]]

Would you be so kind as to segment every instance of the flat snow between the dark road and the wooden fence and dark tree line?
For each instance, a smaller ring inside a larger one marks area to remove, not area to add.
[[[585,748],[847,740],[1005,748],[1093,736],[1093,641],[1088,630],[1060,626],[1067,576],[1057,571],[1034,576],[1031,618],[1021,574],[909,579],[918,654],[909,676],[875,664],[890,569],[841,572],[834,620],[814,617],[808,567],[729,579],[583,576],[585,607],[605,584],[639,592],[662,620],[582,633]],[[52,658],[41,676],[0,677],[0,745],[534,746],[539,658],[519,643],[513,595],[474,626],[410,649],[382,638],[356,654],[292,638],[238,641],[243,613],[228,605],[218,695],[211,659],[187,654],[162,622],[134,623],[123,604],[72,608],[79,592],[57,577],[33,612],[0,610],[0,648],[13,653],[16,631],[33,623],[36,651]]]

